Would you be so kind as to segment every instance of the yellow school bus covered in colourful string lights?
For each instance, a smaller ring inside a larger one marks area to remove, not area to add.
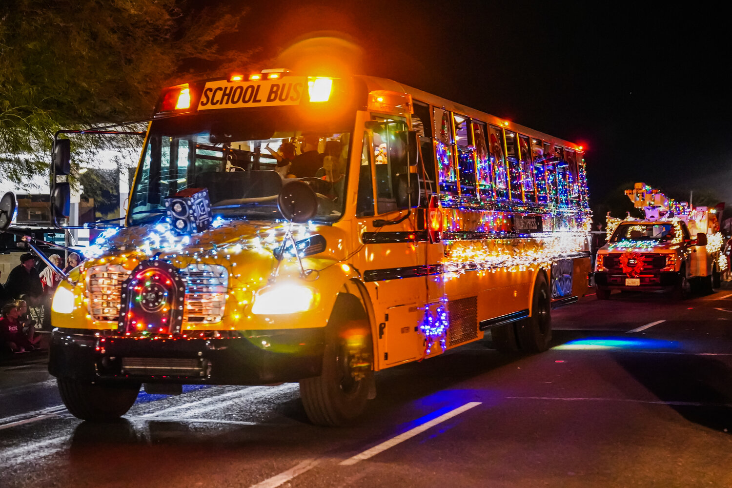
[[[299,381],[310,420],[340,425],[381,369],[488,337],[545,350],[551,308],[586,293],[583,154],[383,78],[169,87],[124,227],[54,296],[61,397],[103,420],[142,384]]]

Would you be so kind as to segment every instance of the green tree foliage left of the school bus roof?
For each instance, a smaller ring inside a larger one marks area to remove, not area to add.
[[[246,67],[239,18],[176,0],[0,1],[0,178],[48,174],[53,133],[146,119],[160,89]],[[185,66],[203,67],[196,75]],[[115,140],[89,143],[93,154]]]

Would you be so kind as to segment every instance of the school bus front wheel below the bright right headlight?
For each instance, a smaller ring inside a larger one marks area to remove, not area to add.
[[[373,389],[368,320],[343,320],[348,315],[338,310],[334,309],[329,321],[333,327],[329,326],[321,375],[300,380],[302,405],[315,425],[337,427],[351,423],[366,409]]]

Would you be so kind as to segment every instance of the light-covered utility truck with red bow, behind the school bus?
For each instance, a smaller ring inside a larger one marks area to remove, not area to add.
[[[612,290],[668,290],[684,299],[692,287],[719,288],[727,260],[720,258],[717,209],[676,202],[644,183],[625,195],[646,216],[608,216],[608,244],[597,251],[594,269],[597,299],[609,299]]]

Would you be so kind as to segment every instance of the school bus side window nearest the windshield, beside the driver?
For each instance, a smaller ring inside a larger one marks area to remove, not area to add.
[[[406,179],[407,124],[382,121],[373,130],[373,154],[376,168],[376,211],[385,214],[402,207],[397,205],[397,187]]]

